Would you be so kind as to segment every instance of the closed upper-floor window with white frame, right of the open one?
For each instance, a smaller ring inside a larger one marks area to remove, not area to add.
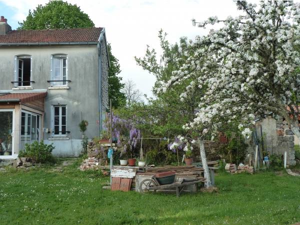
[[[57,81],[55,81],[57,80]],[[55,54],[51,56],[51,86],[67,85],[67,55]]]

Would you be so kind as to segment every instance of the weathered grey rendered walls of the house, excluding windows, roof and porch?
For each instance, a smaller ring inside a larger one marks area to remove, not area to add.
[[[108,58],[106,45],[102,44],[102,109],[108,107]],[[27,91],[15,88],[15,56],[32,56],[32,88],[29,91],[47,91],[44,102],[43,127],[50,130],[52,122],[52,105],[67,106],[67,137],[63,140],[53,139],[50,133],[44,132],[45,143],[54,143],[53,154],[56,156],[78,156],[81,151],[82,133],[78,123],[81,119],[88,121],[85,135],[89,138],[99,135],[99,54],[96,44],[93,45],[43,45],[43,46],[1,46],[0,91]],[[104,53],[105,52],[105,53]],[[68,86],[50,87],[51,55],[63,53],[68,56]],[[41,101],[27,102],[31,107],[40,108]],[[42,128],[43,128],[42,127]]]

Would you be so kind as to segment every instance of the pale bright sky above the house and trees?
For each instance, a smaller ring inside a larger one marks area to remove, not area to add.
[[[48,0],[0,0],[0,15],[7,19],[12,29],[18,21],[26,19],[29,9]],[[239,14],[233,1],[229,0],[67,0],[76,4],[88,14],[96,27],[105,27],[107,42],[112,54],[119,60],[122,81],[131,79],[143,94],[152,96],[155,82],[153,74],[136,65],[134,56],[143,57],[146,45],[154,48],[157,57],[161,54],[158,31],[168,35],[166,39],[174,44],[186,36],[194,40],[196,35],[207,34],[205,30],[192,26],[191,19],[203,21],[217,15],[224,19]]]

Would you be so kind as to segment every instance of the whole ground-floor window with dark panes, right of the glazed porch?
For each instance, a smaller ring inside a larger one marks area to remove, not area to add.
[[[52,136],[66,136],[66,105],[53,105]]]

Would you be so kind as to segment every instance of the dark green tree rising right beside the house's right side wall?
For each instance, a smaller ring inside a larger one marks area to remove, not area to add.
[[[112,107],[118,108],[125,103],[125,95],[120,90],[124,87],[122,77],[117,76],[121,70],[118,59],[111,53],[110,43],[107,44],[110,67],[108,69],[108,98],[112,101]]]

